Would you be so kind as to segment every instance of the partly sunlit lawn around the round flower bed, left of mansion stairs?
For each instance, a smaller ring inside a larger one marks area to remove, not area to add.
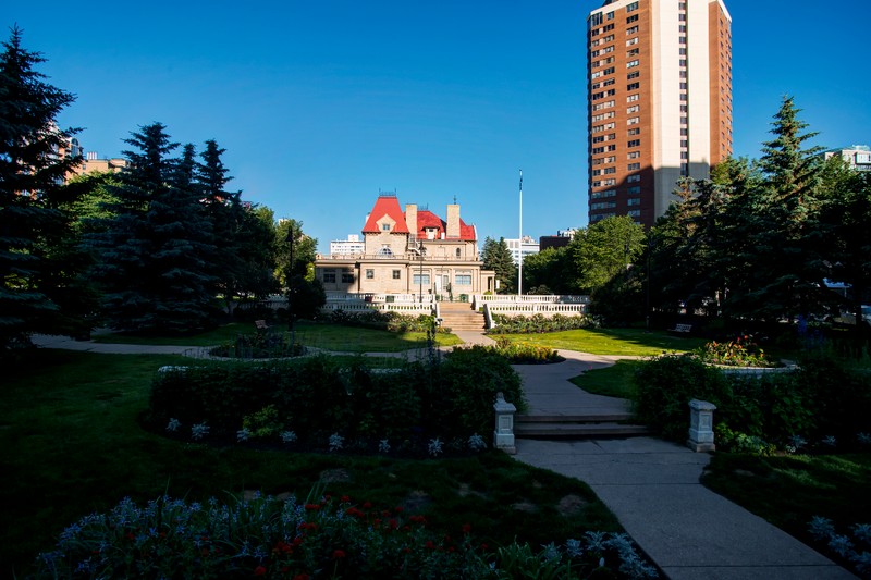
[[[285,326],[275,326],[284,331]],[[95,336],[99,343],[174,345],[174,346],[216,346],[232,342],[238,334],[253,334],[254,323],[235,322],[216,330],[191,336],[135,336],[112,333]],[[419,348],[426,344],[426,333],[395,333],[378,329],[357,326],[340,326],[338,324],[312,324],[300,322],[295,329],[296,341],[306,346],[314,346],[340,353],[400,353]],[[462,341],[453,334],[437,334],[439,346],[453,346]]]

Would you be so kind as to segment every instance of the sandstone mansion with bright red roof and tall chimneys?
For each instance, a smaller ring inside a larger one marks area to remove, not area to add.
[[[483,270],[475,225],[447,206],[446,220],[380,194],[363,227],[360,254],[318,256],[316,276],[329,294],[422,295],[458,298],[495,292],[495,273]]]

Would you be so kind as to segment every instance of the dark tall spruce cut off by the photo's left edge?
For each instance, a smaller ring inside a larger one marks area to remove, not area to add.
[[[81,161],[62,155],[75,129],[57,115],[73,95],[45,82],[38,52],[13,27],[0,53],[0,351],[32,332],[56,332],[58,305],[47,293],[47,259],[63,232],[64,177]]]

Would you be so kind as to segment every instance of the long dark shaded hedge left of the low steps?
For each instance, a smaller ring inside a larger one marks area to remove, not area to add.
[[[517,373],[482,350],[455,349],[389,372],[327,355],[207,362],[162,370],[151,385],[147,421],[161,431],[172,420],[185,428],[206,424],[210,436],[224,439],[266,423],[269,434],[293,431],[302,443],[338,433],[415,446],[489,433],[498,392],[526,408]]]

